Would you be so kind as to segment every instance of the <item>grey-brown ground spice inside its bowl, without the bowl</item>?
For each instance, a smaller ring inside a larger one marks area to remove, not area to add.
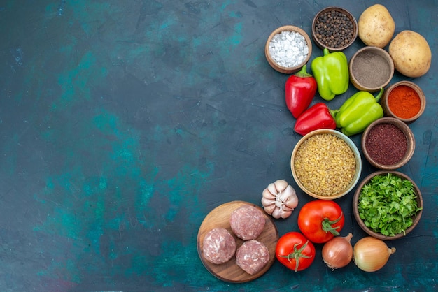
[[[358,54],[353,61],[351,71],[360,85],[368,88],[381,87],[391,75],[388,61],[373,52]]]

